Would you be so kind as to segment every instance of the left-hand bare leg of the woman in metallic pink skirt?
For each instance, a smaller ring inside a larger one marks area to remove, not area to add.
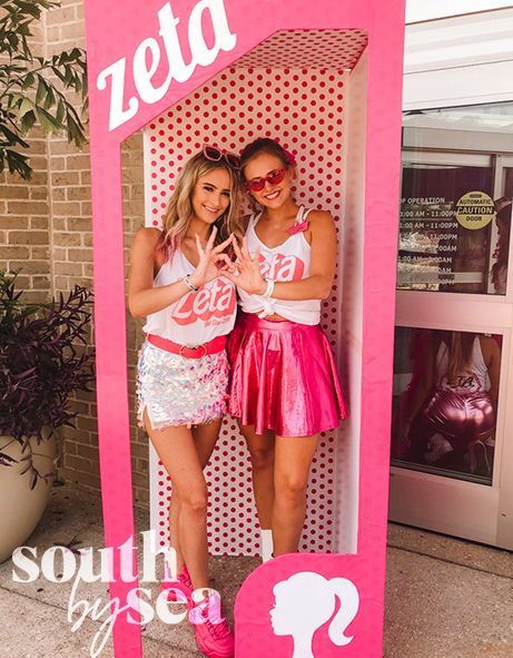
[[[254,425],[240,426],[251,459],[253,491],[258,522],[264,530],[272,528],[274,504],[275,439],[273,433],[257,434]]]

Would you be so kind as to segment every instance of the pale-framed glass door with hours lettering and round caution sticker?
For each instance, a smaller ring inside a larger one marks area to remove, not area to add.
[[[403,147],[391,519],[513,549],[513,104],[406,114]]]

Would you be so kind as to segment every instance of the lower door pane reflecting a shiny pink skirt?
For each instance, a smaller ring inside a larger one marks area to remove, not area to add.
[[[392,464],[492,485],[502,336],[397,327]]]

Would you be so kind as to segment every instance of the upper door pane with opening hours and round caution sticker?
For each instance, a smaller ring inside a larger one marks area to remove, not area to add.
[[[435,164],[436,158],[407,154],[403,160],[397,288],[505,294],[506,269],[502,285],[491,269],[496,263],[494,219],[497,209],[505,220],[511,216],[511,198],[494,200],[494,161],[454,154]],[[506,255],[509,234],[503,237]]]

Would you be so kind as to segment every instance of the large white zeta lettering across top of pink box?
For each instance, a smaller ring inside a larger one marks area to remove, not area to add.
[[[214,31],[214,46],[208,48],[203,32],[203,16],[208,11]],[[188,23],[188,39],[191,60],[186,65],[178,40],[177,26],[179,18],[175,18],[170,2],[158,11],[159,36],[164,43],[164,51],[168,62],[168,72],[161,85],[156,87],[152,78],[157,73],[162,48],[152,37],[144,39],[136,48],[132,59],[134,84],[140,100],[154,104],[162,99],[171,80],[185,82],[190,78],[195,68],[209,66],[215,61],[220,50],[228,52],[235,48],[237,36],[230,31],[224,0],[200,0],[193,8]],[[108,78],[112,79],[110,87],[109,130],[118,128],[131,119],[139,109],[139,98],[132,96],[125,99],[127,58],[122,57],[100,71],[97,87],[100,91],[107,89]],[[128,105],[128,108],[126,106]]]

